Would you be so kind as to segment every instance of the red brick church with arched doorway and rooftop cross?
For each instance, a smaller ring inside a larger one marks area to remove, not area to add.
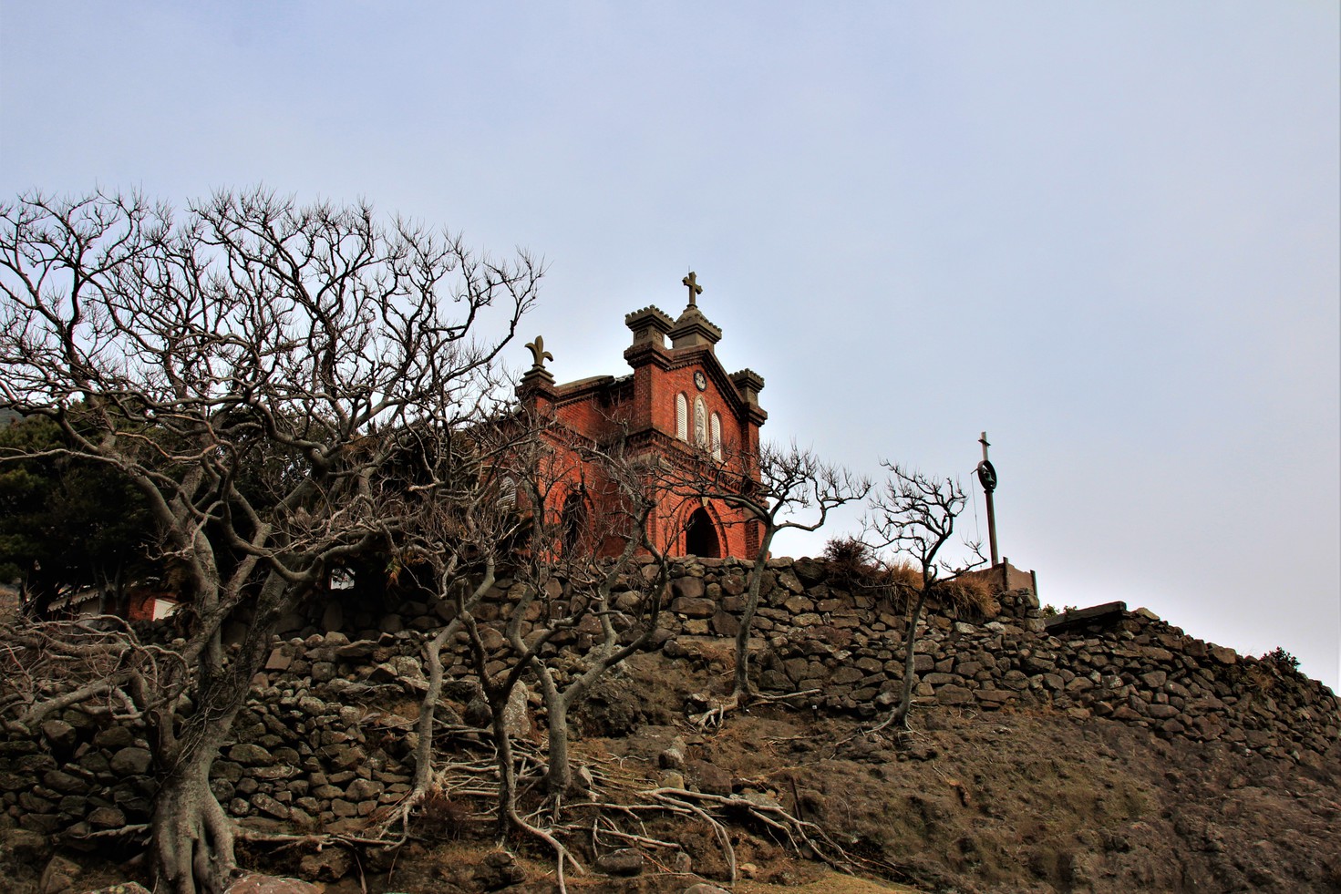
[[[677,319],[657,307],[624,318],[633,334],[624,351],[630,373],[557,385],[544,369],[544,361],[552,358],[538,338],[528,344],[535,363],[522,378],[518,397],[527,409],[551,416],[573,436],[597,445],[625,438],[632,450],[657,453],[672,464],[708,453],[731,480],[748,488],[758,481],[754,457],[759,426],[768,418],[759,407],[763,378],[748,369],[727,373],[716,355],[721,330],[699,310],[703,288],[693,273],[683,284],[689,303]],[[598,492],[585,485],[581,491],[569,488],[569,505],[550,511],[567,512],[582,504],[583,512],[599,513],[601,505],[585,505],[598,503],[593,496]],[[565,499],[551,501],[562,504]],[[721,499],[664,491],[649,528],[653,543],[669,555],[752,556],[759,547],[758,523]]]

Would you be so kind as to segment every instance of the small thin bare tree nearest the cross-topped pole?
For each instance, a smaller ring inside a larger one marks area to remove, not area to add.
[[[904,465],[881,462],[889,476],[876,489],[866,520],[868,536],[876,550],[888,551],[892,559],[912,562],[916,571],[916,584],[902,584],[890,575],[892,586],[911,586],[913,592],[905,592],[909,609],[908,634],[904,638],[904,681],[898,704],[881,726],[896,725],[908,729],[908,710],[912,705],[916,684],[915,647],[917,645],[917,625],[928,595],[944,591],[947,579],[975,568],[986,562],[980,544],[967,544],[975,556],[955,564],[940,558],[941,548],[955,533],[955,519],[964,508],[967,496],[955,478],[939,478],[924,474]]]

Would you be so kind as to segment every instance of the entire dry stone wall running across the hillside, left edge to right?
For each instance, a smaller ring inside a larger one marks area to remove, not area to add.
[[[685,662],[720,658],[721,639],[739,626],[747,571],[732,559],[679,563],[654,647]],[[636,604],[629,583],[617,595],[624,609]],[[507,618],[514,586],[499,582],[484,621]],[[1049,631],[1027,590],[996,602],[992,617],[931,607],[915,647],[916,704],[1062,710],[1314,764],[1341,737],[1341,705],[1317,681],[1188,637],[1148,611],[1114,610]],[[255,824],[339,830],[409,791],[414,733],[405,718],[425,685],[418,654],[449,614],[421,602],[390,613],[319,607],[314,618],[347,618],[347,633],[295,618],[213,767],[220,803]],[[902,613],[850,592],[819,562],[770,563],[755,633],[762,692],[805,693],[798,704],[858,717],[877,717],[897,700]],[[594,623],[579,626],[557,645],[590,645],[595,634]],[[485,645],[496,653],[492,670],[506,667],[502,637],[485,630]],[[445,658],[448,694],[469,722],[471,670],[459,651]],[[448,712],[445,722],[460,720]],[[35,729],[8,721],[3,732],[7,824],[78,842],[148,820],[160,768],[142,728],[66,709]]]

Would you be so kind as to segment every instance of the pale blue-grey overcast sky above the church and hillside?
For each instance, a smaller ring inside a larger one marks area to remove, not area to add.
[[[1334,0],[0,11],[0,194],[264,184],[520,245],[561,381],[692,268],[767,437],[968,484],[986,429],[1043,602],[1337,688]]]

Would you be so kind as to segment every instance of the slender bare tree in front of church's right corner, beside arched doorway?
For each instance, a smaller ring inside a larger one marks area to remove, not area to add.
[[[744,461],[754,476],[734,470]],[[735,674],[731,696],[709,700],[711,706],[696,720],[719,722],[750,697],[750,634],[759,610],[764,571],[774,537],[780,531],[818,531],[829,513],[841,505],[862,500],[870,481],[848,469],[821,461],[811,450],[764,444],[755,456],[720,458],[696,450],[692,460],[680,461],[664,472],[666,485],[684,497],[721,500],[744,511],[746,524],[756,525],[758,546],[751,558],[746,604],[735,641]]]

